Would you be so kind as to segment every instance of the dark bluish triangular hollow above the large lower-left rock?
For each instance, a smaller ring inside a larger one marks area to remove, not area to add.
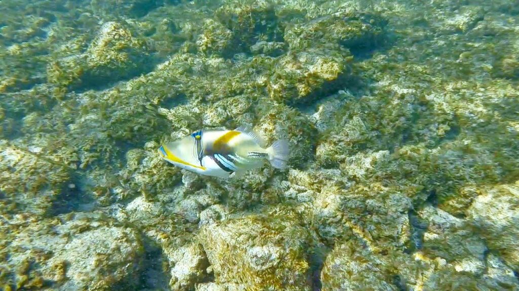
[[[52,203],[50,216],[73,211],[90,212],[95,207],[95,199],[86,193],[85,184],[81,180],[80,173],[74,173],[73,178],[63,185],[60,195]]]

